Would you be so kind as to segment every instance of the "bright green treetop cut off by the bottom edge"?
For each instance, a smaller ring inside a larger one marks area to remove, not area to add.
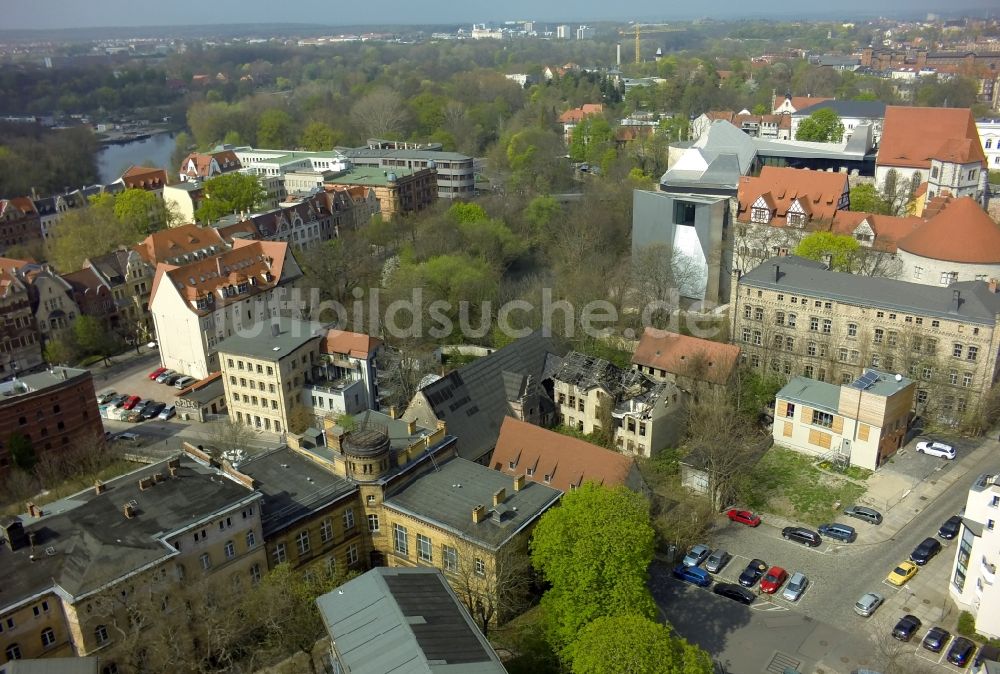
[[[666,625],[636,615],[597,618],[580,630],[573,674],[712,674],[712,658]]]

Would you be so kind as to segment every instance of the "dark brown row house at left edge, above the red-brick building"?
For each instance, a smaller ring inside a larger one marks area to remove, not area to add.
[[[42,341],[28,286],[17,274],[24,264],[0,258],[0,380],[42,364]]]

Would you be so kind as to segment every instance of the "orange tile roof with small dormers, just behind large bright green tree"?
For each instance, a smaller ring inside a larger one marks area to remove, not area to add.
[[[564,492],[584,482],[606,487],[641,485],[632,457],[513,417],[503,420],[490,465],[506,475],[525,475],[532,482],[544,483],[548,475],[547,484]]]

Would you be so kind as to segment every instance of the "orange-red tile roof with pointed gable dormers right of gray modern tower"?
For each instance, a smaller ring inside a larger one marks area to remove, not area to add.
[[[830,222],[847,190],[847,176],[843,173],[765,166],[756,178],[740,178],[737,219],[750,222],[751,208],[763,196],[772,208],[768,224],[775,227],[786,224],[788,209],[796,201],[811,222]]]

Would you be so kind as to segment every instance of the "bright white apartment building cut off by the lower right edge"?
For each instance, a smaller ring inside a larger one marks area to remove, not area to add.
[[[948,590],[976,617],[976,631],[1000,638],[1000,473],[980,475],[969,488]]]

